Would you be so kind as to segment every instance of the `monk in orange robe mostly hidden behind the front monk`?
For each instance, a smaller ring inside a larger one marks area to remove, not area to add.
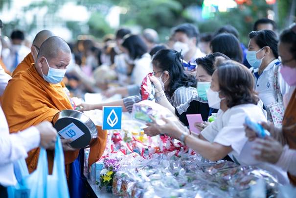
[[[13,71],[12,76],[14,76],[20,71],[28,69],[32,63],[35,63],[35,59],[37,58],[40,46],[46,39],[48,39],[51,36],[54,36],[54,34],[46,29],[36,34],[31,46],[31,53],[28,53],[28,55],[24,57],[23,61]]]

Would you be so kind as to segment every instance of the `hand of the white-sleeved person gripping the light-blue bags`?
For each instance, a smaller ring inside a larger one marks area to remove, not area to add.
[[[42,122],[36,125],[37,130],[40,133],[40,146],[43,148],[54,147],[57,131],[49,122]]]

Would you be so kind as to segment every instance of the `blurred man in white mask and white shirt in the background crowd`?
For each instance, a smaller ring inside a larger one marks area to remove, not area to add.
[[[199,30],[193,24],[181,24],[173,28],[173,49],[181,51],[184,61],[194,63],[195,59],[205,56],[198,47]]]

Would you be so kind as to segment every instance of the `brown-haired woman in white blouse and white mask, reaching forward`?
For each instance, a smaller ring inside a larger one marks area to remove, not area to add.
[[[251,144],[245,136],[244,122],[249,116],[266,121],[257,105],[259,98],[253,90],[254,79],[248,68],[232,60],[218,60],[207,92],[209,106],[220,109],[215,122],[209,124],[199,138],[188,134],[179,121],[163,119],[157,125],[162,133],[182,141],[206,159],[218,161],[227,155],[240,165],[257,165],[276,174],[281,183],[288,182],[286,173],[273,165],[256,161],[251,155]]]

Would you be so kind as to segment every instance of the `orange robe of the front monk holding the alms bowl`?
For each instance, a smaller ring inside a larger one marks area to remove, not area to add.
[[[43,121],[52,121],[53,116],[60,110],[72,109],[62,86],[50,84],[41,77],[34,64],[27,70],[20,71],[8,83],[1,101],[1,106],[6,116],[10,132],[17,132]],[[100,129],[100,128],[98,128]],[[89,161],[97,161],[106,148],[107,132],[98,131],[98,138],[91,147]],[[28,153],[26,159],[29,172],[37,167],[39,148]],[[69,164],[78,156],[79,150],[65,151],[66,173]],[[47,151],[48,169],[53,166],[53,151]]]

